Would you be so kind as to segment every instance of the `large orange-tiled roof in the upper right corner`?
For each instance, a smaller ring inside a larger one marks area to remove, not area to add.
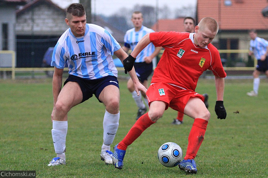
[[[268,30],[268,17],[261,13],[267,6],[267,0],[198,0],[197,21],[215,18],[221,30]]]

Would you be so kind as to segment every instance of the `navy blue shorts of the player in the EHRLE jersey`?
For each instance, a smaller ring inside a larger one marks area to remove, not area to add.
[[[82,102],[91,98],[93,96],[93,94],[99,100],[99,94],[108,85],[115,85],[119,88],[117,78],[115,76],[111,76],[111,75],[108,75],[106,77],[102,77],[100,79],[92,79],[92,80],[84,79],[84,78],[77,77],[74,75],[69,75],[68,79],[66,79],[66,81],[64,82],[64,85],[70,81],[77,82],[79,84],[81,91],[82,91],[82,94],[83,94]],[[100,101],[100,100],[99,100],[99,102],[102,103],[102,101]]]

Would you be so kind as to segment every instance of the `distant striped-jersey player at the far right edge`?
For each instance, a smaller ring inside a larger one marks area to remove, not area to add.
[[[253,71],[253,90],[248,92],[248,96],[258,96],[261,72],[268,77],[268,41],[257,36],[255,29],[249,31],[250,35],[250,52],[249,55],[255,56],[257,59],[256,69]]]

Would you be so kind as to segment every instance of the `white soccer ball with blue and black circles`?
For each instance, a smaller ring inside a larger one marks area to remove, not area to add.
[[[158,160],[163,166],[175,167],[183,160],[183,152],[178,144],[167,142],[158,149]]]

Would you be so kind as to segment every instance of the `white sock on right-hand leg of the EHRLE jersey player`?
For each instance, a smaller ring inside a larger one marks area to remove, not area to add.
[[[103,144],[110,145],[113,143],[119,126],[119,117],[120,112],[118,114],[110,114],[105,110],[103,118]]]

